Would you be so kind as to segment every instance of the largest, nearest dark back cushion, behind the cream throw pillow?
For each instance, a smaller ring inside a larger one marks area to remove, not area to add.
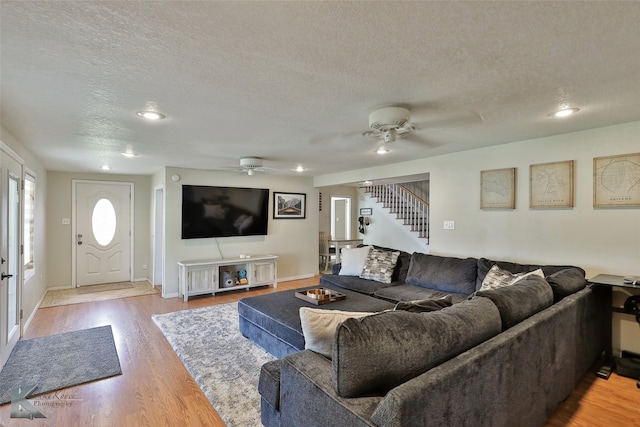
[[[481,297],[429,313],[347,319],[334,336],[334,389],[342,397],[384,394],[500,331],[498,309]]]

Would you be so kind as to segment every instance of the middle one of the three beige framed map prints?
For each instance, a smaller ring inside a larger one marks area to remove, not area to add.
[[[529,166],[529,206],[572,208],[573,160]]]

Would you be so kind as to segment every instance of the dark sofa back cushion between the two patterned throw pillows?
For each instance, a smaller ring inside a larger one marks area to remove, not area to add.
[[[469,295],[476,290],[476,258],[454,258],[415,252],[407,283],[444,292]]]

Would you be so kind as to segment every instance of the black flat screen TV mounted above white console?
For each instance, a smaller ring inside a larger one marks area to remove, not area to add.
[[[269,189],[182,186],[182,238],[267,234]]]

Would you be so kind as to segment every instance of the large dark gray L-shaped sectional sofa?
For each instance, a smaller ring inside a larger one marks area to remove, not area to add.
[[[496,264],[545,278],[478,292]],[[454,304],[348,319],[331,359],[302,350],[265,364],[267,427],[540,426],[607,344],[610,291],[586,286],[577,267],[401,253],[390,284],[338,274],[321,284]]]

